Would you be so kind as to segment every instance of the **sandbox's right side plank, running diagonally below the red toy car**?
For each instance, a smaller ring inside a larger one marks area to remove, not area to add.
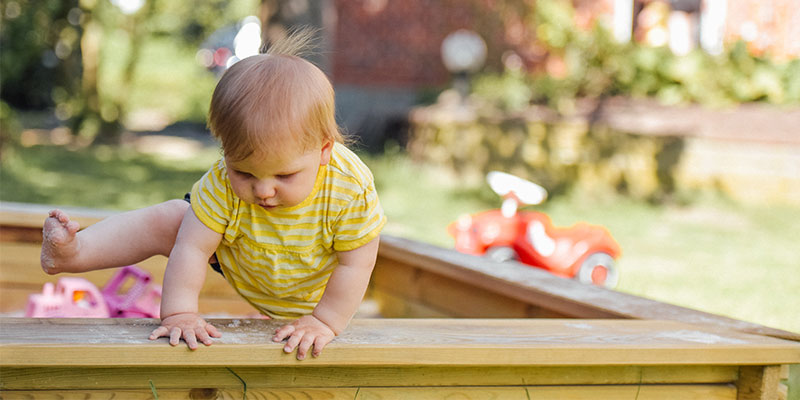
[[[800,341],[800,333],[583,285],[518,263],[497,263],[451,249],[382,235],[376,273],[397,264],[439,274],[526,304],[547,307],[573,318],[669,319]]]

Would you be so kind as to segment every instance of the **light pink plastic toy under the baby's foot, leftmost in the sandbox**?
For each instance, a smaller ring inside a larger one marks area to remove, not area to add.
[[[83,278],[61,278],[55,287],[48,282],[40,294],[28,297],[28,318],[108,318],[108,307],[97,287]]]

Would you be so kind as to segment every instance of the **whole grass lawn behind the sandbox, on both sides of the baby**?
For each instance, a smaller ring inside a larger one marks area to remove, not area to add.
[[[181,160],[114,147],[6,149],[0,200],[126,210],[181,197],[219,156]],[[414,164],[402,154],[364,157],[389,217],[385,233],[444,247],[462,213],[496,207],[488,186]],[[656,206],[571,194],[539,207],[557,225],[587,221],[620,242],[618,290],[800,332],[798,206],[745,206],[720,198]]]

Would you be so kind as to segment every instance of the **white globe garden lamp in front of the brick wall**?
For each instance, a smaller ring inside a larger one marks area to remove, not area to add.
[[[469,75],[486,61],[486,42],[473,31],[459,29],[444,38],[441,52],[445,68],[453,74],[453,87],[464,99],[469,93]]]

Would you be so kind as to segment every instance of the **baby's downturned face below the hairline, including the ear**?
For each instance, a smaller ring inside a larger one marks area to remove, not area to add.
[[[252,155],[241,161],[225,158],[234,193],[266,210],[296,206],[314,189],[317,171],[330,161],[333,144],[307,151],[289,151],[277,157]]]

